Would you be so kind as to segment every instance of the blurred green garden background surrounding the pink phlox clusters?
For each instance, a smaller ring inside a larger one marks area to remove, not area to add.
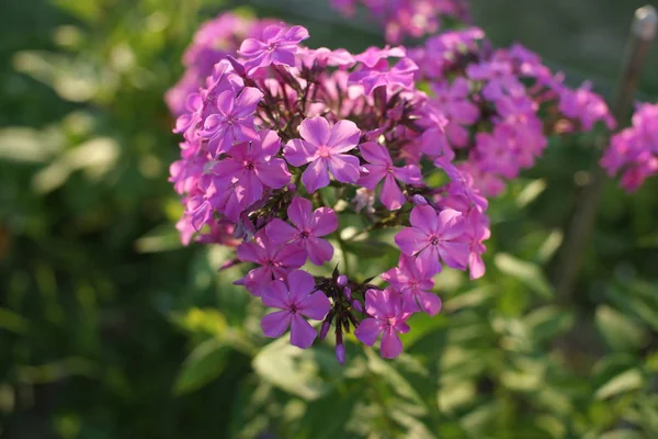
[[[606,97],[644,4],[472,3],[495,44]],[[0,1],[0,437],[658,438],[658,181],[609,181],[577,289],[553,286],[592,135],[553,142],[491,202],[487,275],[442,273],[444,311],[415,317],[398,360],[350,345],[341,368],[328,344],[261,336],[224,250],[180,246],[167,182],[162,95],[198,24],[236,7],[310,46],[382,44],[322,0]]]

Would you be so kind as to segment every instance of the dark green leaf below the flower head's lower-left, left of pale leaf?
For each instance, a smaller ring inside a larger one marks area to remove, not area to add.
[[[183,363],[179,373],[174,393],[182,395],[194,392],[224,372],[232,349],[224,342],[209,339],[198,345]]]

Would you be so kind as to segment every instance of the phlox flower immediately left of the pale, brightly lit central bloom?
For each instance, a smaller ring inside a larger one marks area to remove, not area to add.
[[[242,207],[259,200],[263,187],[281,189],[291,181],[283,159],[274,157],[281,150],[276,132],[262,131],[260,139],[235,145],[228,157],[213,168],[217,181],[231,181]]]

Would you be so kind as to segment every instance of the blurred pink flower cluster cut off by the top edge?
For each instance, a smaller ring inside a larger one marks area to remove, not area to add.
[[[334,8],[353,16],[356,5],[383,23],[386,41],[397,44],[405,36],[419,38],[435,33],[444,20],[469,22],[467,0],[332,0]]]

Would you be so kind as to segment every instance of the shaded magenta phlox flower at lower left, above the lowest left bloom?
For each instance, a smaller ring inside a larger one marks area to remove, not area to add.
[[[245,285],[251,294],[260,296],[273,280],[285,279],[292,270],[302,267],[306,262],[306,250],[292,244],[274,245],[265,229],[261,228],[253,240],[238,246],[237,257],[243,262],[258,263],[260,267],[234,283]]]

